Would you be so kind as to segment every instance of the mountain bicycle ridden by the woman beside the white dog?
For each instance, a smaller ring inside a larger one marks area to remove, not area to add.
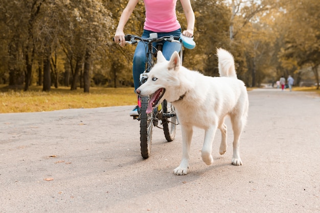
[[[182,46],[188,49],[193,49],[195,46],[194,41],[189,40],[189,38],[184,36],[164,36],[157,37],[156,33],[151,33],[149,38],[141,38],[137,35],[127,34],[125,40],[129,44],[135,44],[138,42],[144,42],[146,51],[146,68],[144,72],[140,75],[140,85],[145,83],[148,79],[148,73],[155,64],[155,58],[158,51],[162,51],[161,41],[178,42],[181,44],[180,49],[180,63],[182,63]],[[152,127],[158,127],[160,122],[163,126],[161,129],[164,130],[165,138],[168,142],[174,140],[177,117],[174,107],[171,103],[164,100],[158,107],[155,107],[150,113],[147,113],[148,103],[150,96],[138,98],[138,116],[133,116],[133,119],[140,121],[140,147],[141,155],[143,158],[148,158],[151,152],[151,141],[152,141]]]

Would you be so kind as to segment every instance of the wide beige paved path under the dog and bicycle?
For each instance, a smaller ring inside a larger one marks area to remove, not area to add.
[[[131,106],[0,114],[0,212],[320,212],[320,97],[257,89],[249,102],[243,165],[227,121],[210,166],[194,131],[186,176],[172,174],[180,128],[171,143],[154,128],[143,160]]]

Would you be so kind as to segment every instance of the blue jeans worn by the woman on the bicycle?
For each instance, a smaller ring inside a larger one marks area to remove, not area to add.
[[[142,38],[149,38],[149,34],[154,33],[149,30],[144,30],[142,34]],[[172,31],[169,33],[157,33],[158,38],[163,36],[180,36],[181,29]],[[180,52],[181,45],[176,42],[163,41],[163,49],[162,53],[167,60],[170,60],[171,55],[174,51]],[[135,48],[134,56],[133,56],[133,82],[134,82],[134,91],[139,87],[139,78],[140,74],[142,74],[146,68],[146,50],[145,44],[143,42],[138,42],[138,45]]]

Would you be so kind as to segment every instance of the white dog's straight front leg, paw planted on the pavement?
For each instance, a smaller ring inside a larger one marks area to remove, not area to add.
[[[182,132],[182,160],[179,167],[173,170],[175,175],[187,175],[190,159],[190,145],[192,139],[193,129],[192,126],[181,125]]]

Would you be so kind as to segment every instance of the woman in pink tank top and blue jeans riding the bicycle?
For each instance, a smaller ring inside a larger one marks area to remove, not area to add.
[[[121,46],[126,44],[125,34],[123,32],[133,9],[139,0],[129,0],[126,8],[123,10],[117,31],[115,34],[115,42],[120,42]],[[162,36],[180,36],[181,26],[176,17],[176,2],[177,0],[144,0],[146,9],[146,19],[144,23],[144,31],[142,38],[149,38],[150,33],[157,33],[158,37]],[[180,0],[182,8],[187,19],[187,30],[182,32],[182,35],[187,37],[193,36],[194,29],[194,12],[191,7],[190,0]],[[163,43],[163,55],[169,60],[174,51],[179,52],[181,45],[179,43],[164,41]],[[133,82],[134,91],[139,87],[139,78],[145,70],[146,64],[146,49],[142,42],[139,42],[136,46],[133,56]],[[130,112],[130,116],[138,115],[138,106],[134,107]]]

